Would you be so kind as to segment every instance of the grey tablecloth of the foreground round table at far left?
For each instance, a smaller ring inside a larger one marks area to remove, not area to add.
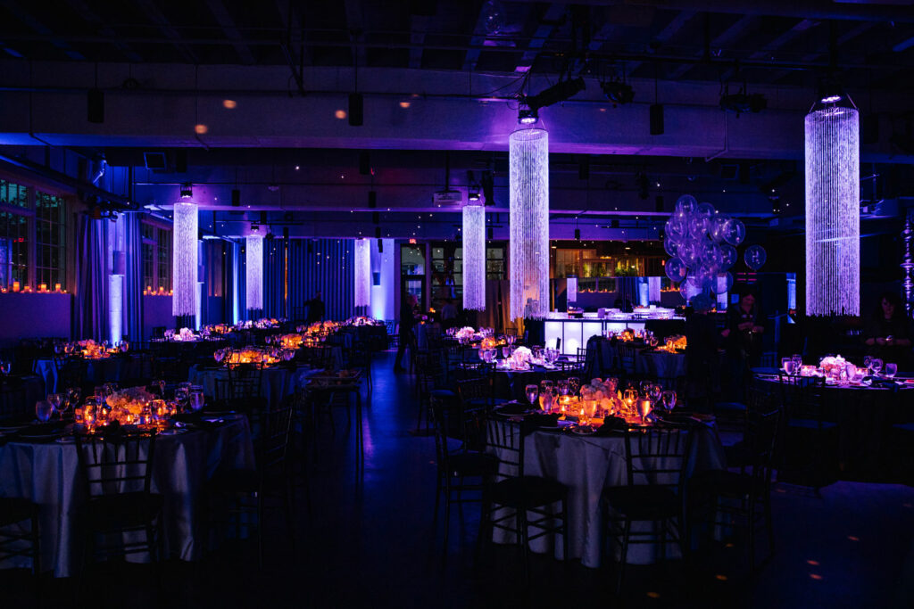
[[[162,531],[165,556],[190,561],[200,557],[204,540],[197,496],[218,467],[254,468],[250,426],[243,415],[206,431],[155,440],[152,491],[165,497]],[[29,499],[38,504],[41,565],[55,577],[79,572],[82,532],[75,521],[85,502],[75,444],[11,440],[0,446],[0,495]],[[143,561],[143,554],[130,555]],[[26,557],[7,559],[0,568],[30,567]]]

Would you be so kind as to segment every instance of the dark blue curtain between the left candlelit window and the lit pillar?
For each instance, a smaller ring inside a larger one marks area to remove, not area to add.
[[[78,339],[104,341],[108,333],[108,276],[105,223],[88,215],[80,216],[77,238],[77,292],[73,315],[73,335]]]

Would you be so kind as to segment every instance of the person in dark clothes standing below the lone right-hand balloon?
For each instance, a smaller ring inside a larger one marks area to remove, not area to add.
[[[755,292],[750,288],[739,290],[739,302],[727,309],[727,322],[720,335],[724,337],[731,383],[731,397],[742,401],[749,380],[749,365],[759,356],[761,334],[759,310],[755,305]]]

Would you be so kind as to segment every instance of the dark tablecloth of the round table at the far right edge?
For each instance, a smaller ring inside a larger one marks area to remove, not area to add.
[[[779,383],[777,374],[757,373],[755,378]],[[837,424],[837,458],[845,468],[879,469],[890,425],[914,420],[914,382],[908,380],[882,379],[871,386],[825,384],[823,419]]]

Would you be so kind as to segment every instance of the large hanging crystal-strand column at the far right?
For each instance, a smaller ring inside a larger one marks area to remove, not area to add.
[[[860,314],[859,124],[847,98],[806,115],[807,315]]]

